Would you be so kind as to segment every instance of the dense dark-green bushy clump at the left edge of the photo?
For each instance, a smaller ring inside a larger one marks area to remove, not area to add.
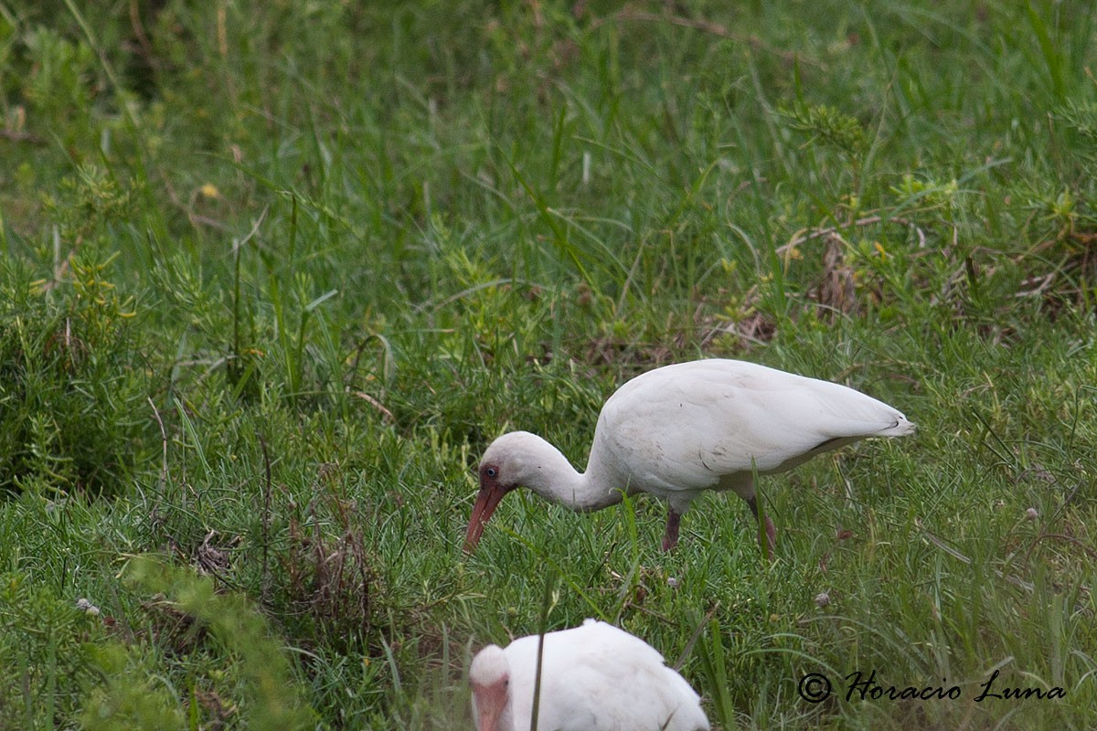
[[[118,494],[139,468],[149,385],[109,260],[68,260],[58,287],[4,267],[0,488]]]

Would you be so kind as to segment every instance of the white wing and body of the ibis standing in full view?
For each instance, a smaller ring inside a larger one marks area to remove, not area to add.
[[[675,492],[736,473],[781,471],[819,450],[909,429],[902,413],[851,388],[710,359],[651,370],[622,386],[602,410],[596,441],[645,489]]]

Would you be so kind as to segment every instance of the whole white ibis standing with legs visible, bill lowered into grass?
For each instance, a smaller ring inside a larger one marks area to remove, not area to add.
[[[755,475],[783,472],[870,436],[914,431],[906,416],[846,386],[754,363],[691,361],[648,370],[619,388],[598,416],[587,470],[529,432],[493,442],[479,464],[479,494],[465,550],[479,542],[499,501],[525,487],[576,511],[651,493],[667,501],[663,549],[678,542],[682,513],[703,490],[732,490],[755,517]],[[777,540],[766,518],[769,545]]]

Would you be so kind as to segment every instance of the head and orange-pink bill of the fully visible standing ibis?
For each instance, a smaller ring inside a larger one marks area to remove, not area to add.
[[[511,490],[540,483],[543,455],[546,448],[555,452],[547,442],[529,432],[504,434],[484,452],[479,465],[480,490],[473,505],[468,529],[465,533],[465,552],[471,553],[479,542],[495,509]]]

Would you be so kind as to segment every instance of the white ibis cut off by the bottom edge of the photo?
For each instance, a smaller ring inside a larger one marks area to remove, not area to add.
[[[489,644],[468,667],[477,731],[530,731],[538,674],[531,635]],[[655,648],[604,621],[547,632],[538,730],[709,731],[701,701]]]

